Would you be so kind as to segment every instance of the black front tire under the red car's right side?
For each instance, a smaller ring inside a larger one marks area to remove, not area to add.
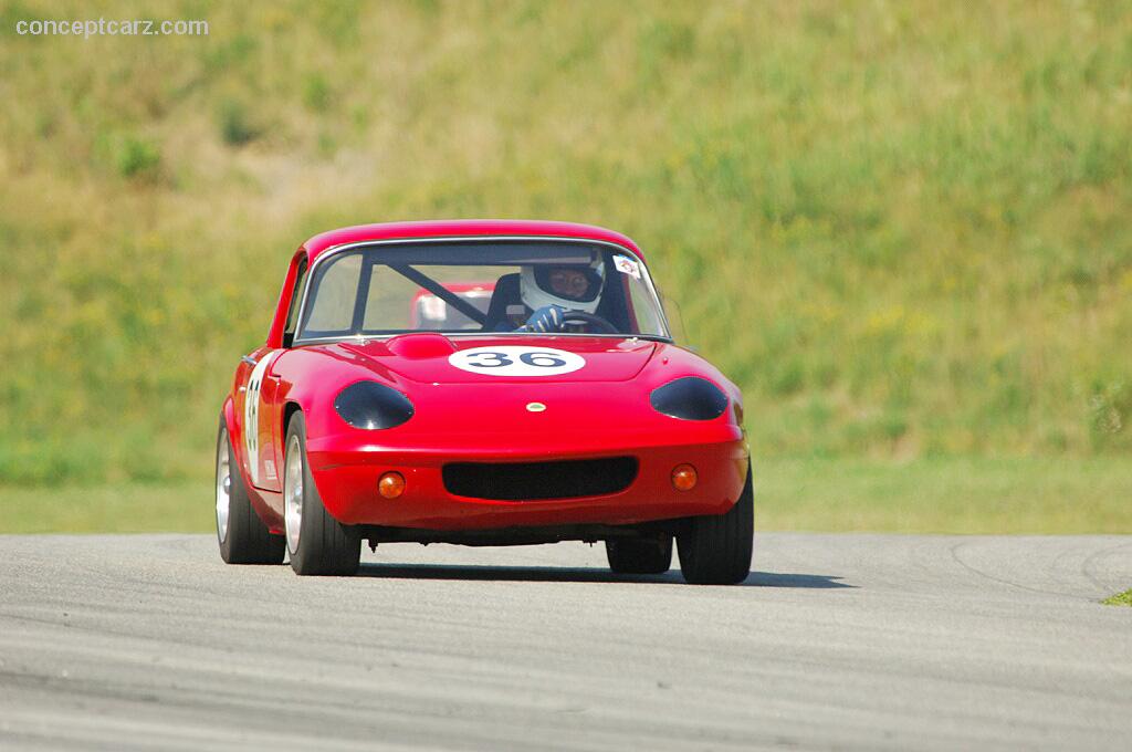
[[[688,519],[676,537],[680,572],[693,584],[736,584],[751,573],[755,530],[754,488],[751,464],[738,501],[724,514]]]

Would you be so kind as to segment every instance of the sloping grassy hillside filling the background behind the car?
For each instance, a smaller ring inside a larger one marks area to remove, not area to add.
[[[206,478],[290,251],[464,216],[633,236],[762,456],[1127,462],[1132,3],[97,15],[211,33],[0,5],[0,485]]]

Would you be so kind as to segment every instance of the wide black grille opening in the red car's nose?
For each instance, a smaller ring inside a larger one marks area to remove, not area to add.
[[[449,494],[499,502],[604,496],[625,490],[636,478],[631,456],[560,462],[453,462],[444,465]]]

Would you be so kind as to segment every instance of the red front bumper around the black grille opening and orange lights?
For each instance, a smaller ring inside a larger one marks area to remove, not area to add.
[[[506,445],[460,450],[453,446],[393,448],[365,443],[365,437],[338,435],[308,443],[315,485],[327,511],[345,524],[371,524],[430,530],[489,530],[578,523],[634,524],[727,512],[743,490],[747,447],[738,429],[721,431],[718,441],[655,444],[637,436],[612,448],[588,447],[584,441],[558,446],[524,446],[522,437]],[[702,438],[702,437],[701,437]],[[526,444],[530,446],[530,444]],[[632,456],[638,471],[621,492],[575,498],[490,501],[456,496],[445,488],[441,469],[449,462],[541,462]],[[671,484],[672,468],[691,463],[698,482],[687,492]],[[378,478],[388,471],[405,478],[395,499],[377,493]]]

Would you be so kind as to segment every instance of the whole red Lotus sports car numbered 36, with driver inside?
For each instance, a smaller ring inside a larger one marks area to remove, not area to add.
[[[595,227],[311,238],[220,420],[230,564],[352,574],[363,540],[603,540],[614,572],[643,574],[675,538],[688,582],[723,584],[748,574],[752,516],[739,391],[674,344],[643,254]]]

